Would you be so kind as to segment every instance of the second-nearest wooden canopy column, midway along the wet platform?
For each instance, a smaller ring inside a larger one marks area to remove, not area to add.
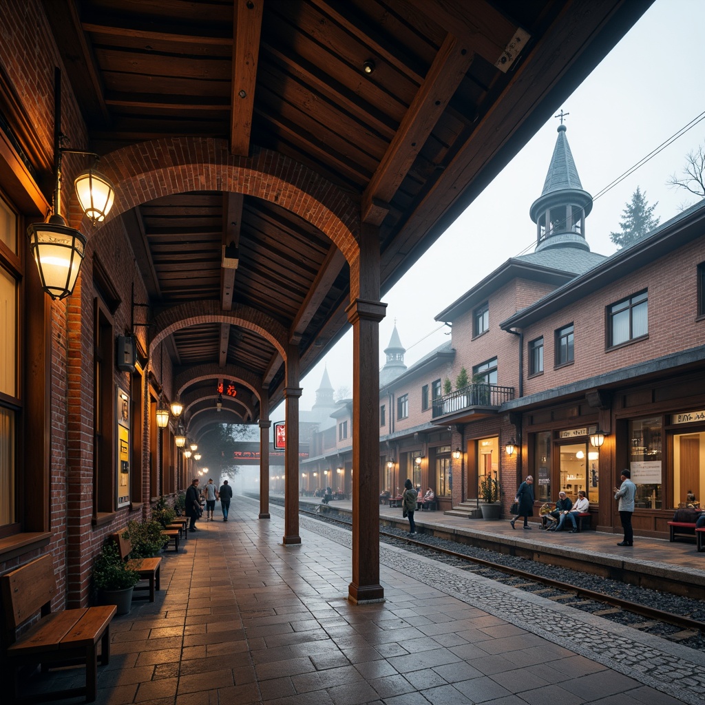
[[[284,450],[283,544],[300,544],[299,536],[299,349],[289,345],[286,355],[286,449]]]

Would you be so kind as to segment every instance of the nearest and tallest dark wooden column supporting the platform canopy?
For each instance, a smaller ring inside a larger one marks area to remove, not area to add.
[[[362,225],[360,255],[350,264],[353,326],[353,582],[354,603],[384,600],[379,584],[379,233]]]

